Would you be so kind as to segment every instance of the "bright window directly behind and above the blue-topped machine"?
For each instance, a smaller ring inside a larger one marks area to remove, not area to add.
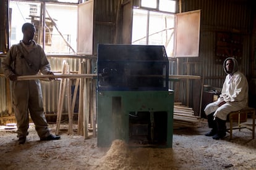
[[[140,9],[134,8],[132,44],[163,45],[168,57],[173,57],[174,14],[170,11],[175,12],[176,1],[160,0],[160,6],[164,6],[164,2],[167,6],[161,9],[169,13],[144,9],[146,2],[149,1],[142,1]],[[153,7],[151,3],[147,4],[147,7]]]

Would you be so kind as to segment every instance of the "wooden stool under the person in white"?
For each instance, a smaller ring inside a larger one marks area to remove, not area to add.
[[[244,126],[243,124],[241,124],[241,115],[244,115],[245,119],[247,119],[247,114],[248,113],[252,114],[252,128],[250,128],[249,126]],[[237,127],[233,127],[234,115],[238,115],[238,121],[237,121],[238,126]],[[228,119],[229,119],[229,123],[230,123],[229,128],[227,128],[227,132],[229,132],[229,134],[230,134],[229,140],[233,139],[233,136],[232,136],[233,129],[239,129],[239,131],[240,131],[240,129],[242,129],[242,128],[247,128],[250,131],[252,131],[252,139],[254,139],[254,135],[255,135],[255,109],[254,108],[246,107],[246,108],[243,108],[241,110],[232,111],[231,113],[229,113]]]

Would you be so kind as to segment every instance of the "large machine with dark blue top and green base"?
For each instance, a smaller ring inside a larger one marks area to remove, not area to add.
[[[164,46],[98,45],[98,147],[172,147],[174,92]]]

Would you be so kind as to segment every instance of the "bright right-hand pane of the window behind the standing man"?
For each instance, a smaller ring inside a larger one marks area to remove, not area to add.
[[[77,6],[46,4],[45,51],[77,51]]]

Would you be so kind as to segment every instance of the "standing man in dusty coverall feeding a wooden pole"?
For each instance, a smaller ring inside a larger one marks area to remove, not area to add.
[[[12,81],[12,104],[17,120],[19,144],[24,144],[28,135],[28,111],[35,123],[40,140],[58,140],[60,136],[50,134],[43,113],[43,97],[39,79],[17,81],[17,76],[36,75],[38,71],[44,75],[54,75],[45,52],[33,40],[35,26],[32,23],[24,23],[22,33],[23,39],[19,44],[14,44],[11,47],[2,61],[4,75]]]

